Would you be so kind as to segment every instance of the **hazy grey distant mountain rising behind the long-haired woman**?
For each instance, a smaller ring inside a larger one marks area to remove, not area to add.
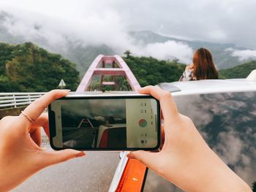
[[[236,66],[238,64],[244,63],[246,61],[250,61],[256,58],[255,50],[248,50],[244,47],[236,47],[234,44],[222,44],[222,43],[214,43],[214,42],[205,42],[205,41],[198,41],[198,40],[184,40],[184,39],[177,39],[173,37],[165,37],[159,34],[156,34],[152,31],[132,31],[129,33],[133,38],[138,39],[138,41],[143,42],[144,45],[156,45],[156,42],[163,47],[168,42],[178,42],[181,45],[187,45],[189,49],[192,49],[194,52],[200,47],[207,47],[211,50],[211,53],[214,55],[214,62],[217,65],[218,69],[225,69],[231,66]],[[176,46],[173,46],[176,49]],[[176,49],[177,50],[177,49]],[[173,53],[170,50],[170,47],[166,47],[166,49],[156,49],[157,53]],[[179,51],[179,50],[178,50]],[[184,51],[184,50],[180,50]],[[178,54],[169,55],[167,58],[180,58]],[[189,55],[189,62],[185,64],[189,64],[192,62],[192,55]],[[161,57],[158,57],[161,58]],[[164,58],[164,57],[162,57]],[[165,58],[166,59],[166,58]],[[181,60],[182,61],[182,60]]]

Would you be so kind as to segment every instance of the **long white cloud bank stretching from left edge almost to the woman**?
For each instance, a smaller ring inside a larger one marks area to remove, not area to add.
[[[0,9],[1,10],[1,9]],[[178,58],[183,63],[191,62],[192,48],[182,42],[168,41],[142,45],[129,36],[129,29],[121,15],[111,9],[100,12],[87,12],[86,15],[72,18],[69,12],[65,17],[53,17],[44,12],[35,13],[23,9],[4,9],[9,14],[0,23],[8,33],[35,42],[50,51],[67,50],[72,45],[108,45],[117,54],[131,50],[134,55],[152,56],[158,59]],[[75,13],[74,13],[75,14]],[[32,17],[31,17],[32,16]]]

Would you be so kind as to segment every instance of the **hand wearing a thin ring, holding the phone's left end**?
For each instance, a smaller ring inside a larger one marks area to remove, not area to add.
[[[48,115],[42,113],[55,99],[68,91],[54,90],[31,103],[25,115],[0,120],[0,191],[10,191],[40,169],[85,155],[78,150],[47,151],[42,149],[41,130],[48,131]]]

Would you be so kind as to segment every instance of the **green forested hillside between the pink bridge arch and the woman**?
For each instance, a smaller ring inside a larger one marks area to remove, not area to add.
[[[151,57],[124,58],[141,86],[156,85],[159,82],[178,81],[185,69],[184,64],[177,61],[159,61]]]

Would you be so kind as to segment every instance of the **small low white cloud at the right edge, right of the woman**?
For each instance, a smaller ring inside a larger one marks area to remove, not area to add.
[[[228,48],[226,51],[230,52],[230,55],[233,57],[237,57],[239,61],[246,61],[256,58],[256,50],[236,50],[233,48]]]

